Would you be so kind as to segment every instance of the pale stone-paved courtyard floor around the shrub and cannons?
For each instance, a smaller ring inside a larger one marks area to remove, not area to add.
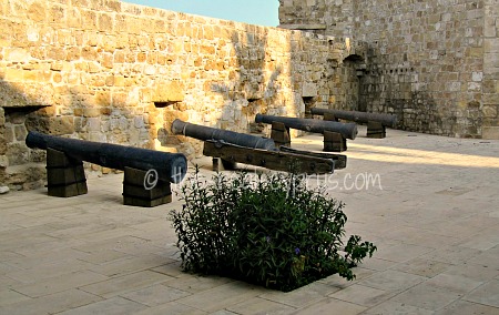
[[[348,234],[378,246],[353,282],[281,293],[185,274],[167,220],[179,199],[123,206],[113,174],[71,199],[0,195],[0,314],[499,314],[499,141],[387,135],[360,126],[347,167],[309,179],[346,203]]]

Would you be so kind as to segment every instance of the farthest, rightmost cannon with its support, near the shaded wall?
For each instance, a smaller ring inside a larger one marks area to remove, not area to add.
[[[347,120],[357,123],[367,123],[367,136],[369,138],[385,138],[386,128],[396,128],[398,119],[396,115],[386,113],[367,113],[357,111],[342,111],[342,110],[328,110],[317,109],[310,110],[314,115],[324,115],[324,119],[329,120]]]

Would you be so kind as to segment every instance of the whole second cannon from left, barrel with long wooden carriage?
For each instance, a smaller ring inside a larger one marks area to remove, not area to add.
[[[276,148],[272,139],[175,120],[173,134],[204,141],[203,154],[213,158],[213,169],[234,170],[244,163],[275,171],[308,174],[333,173],[346,167],[346,156]]]

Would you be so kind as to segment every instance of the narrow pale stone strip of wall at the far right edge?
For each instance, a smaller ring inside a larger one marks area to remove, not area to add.
[[[483,23],[485,139],[499,139],[499,1],[485,1]]]

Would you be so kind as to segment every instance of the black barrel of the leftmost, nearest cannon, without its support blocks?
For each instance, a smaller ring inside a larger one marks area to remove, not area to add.
[[[35,131],[28,133],[26,144],[32,149],[58,150],[72,159],[121,171],[126,166],[142,171],[154,170],[161,180],[175,184],[187,172],[187,159],[181,153],[60,138]]]

